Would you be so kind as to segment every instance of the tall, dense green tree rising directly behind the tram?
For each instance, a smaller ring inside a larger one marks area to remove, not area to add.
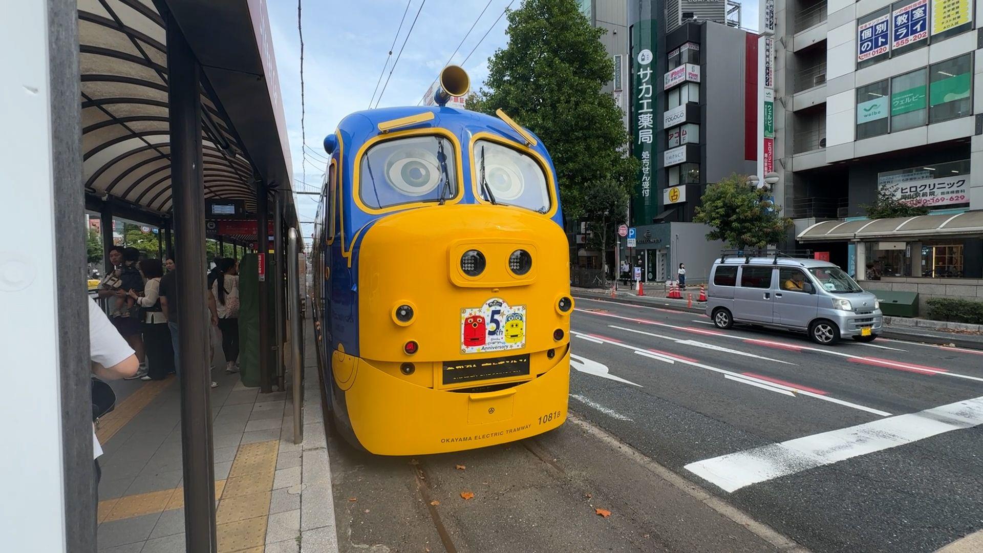
[[[500,108],[539,136],[568,216],[589,211],[589,185],[627,193],[638,161],[622,154],[628,136],[621,110],[602,92],[613,75],[600,40],[606,31],[591,27],[574,0],[526,0],[508,13],[505,32],[508,44],[489,60],[485,88],[468,107],[490,114]]]

